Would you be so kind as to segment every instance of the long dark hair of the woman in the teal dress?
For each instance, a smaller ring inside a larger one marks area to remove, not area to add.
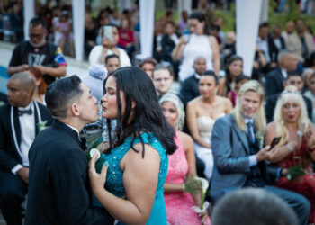
[[[174,142],[175,130],[166,121],[158,104],[156,89],[148,75],[139,67],[121,67],[109,75],[116,78],[117,128],[112,138],[110,120],[107,120],[111,148],[121,146],[128,137],[132,137],[131,146],[141,132],[152,132],[166,149],[173,154],[177,148]],[[107,80],[106,80],[107,81]],[[106,82],[104,82],[104,85]],[[126,102],[125,112],[121,112],[121,94]],[[130,120],[131,103],[134,101],[133,117]],[[142,157],[144,157],[144,143]],[[131,147],[137,151],[135,148]]]

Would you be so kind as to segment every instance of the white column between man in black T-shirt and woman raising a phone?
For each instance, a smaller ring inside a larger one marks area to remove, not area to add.
[[[85,0],[72,0],[76,60],[83,61],[85,44]]]

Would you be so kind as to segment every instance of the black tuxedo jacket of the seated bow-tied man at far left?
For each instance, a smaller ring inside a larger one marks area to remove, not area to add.
[[[35,103],[35,102],[34,102]],[[52,118],[48,108],[40,103],[37,103],[40,110],[41,121],[47,121],[47,126],[51,124]],[[11,109],[13,108],[13,122],[11,121]],[[36,135],[39,133],[38,122],[39,116],[34,105]],[[16,143],[18,147],[21,144],[20,120],[16,107],[11,107],[9,103],[0,107],[0,170],[11,173],[14,166],[21,164],[22,158],[19,150],[15,147],[14,131],[16,134]]]

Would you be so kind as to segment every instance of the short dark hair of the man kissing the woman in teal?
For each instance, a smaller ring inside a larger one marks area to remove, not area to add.
[[[45,102],[52,116],[56,119],[65,119],[71,103],[79,100],[83,94],[80,87],[81,79],[74,75],[58,79],[48,86]]]

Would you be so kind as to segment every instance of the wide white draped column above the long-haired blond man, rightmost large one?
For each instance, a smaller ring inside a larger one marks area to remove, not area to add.
[[[237,0],[237,54],[244,60],[243,72],[251,76],[262,0]]]

